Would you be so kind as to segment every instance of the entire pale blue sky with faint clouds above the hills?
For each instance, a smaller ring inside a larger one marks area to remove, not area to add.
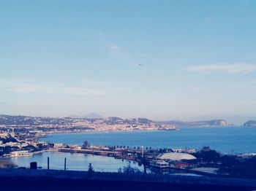
[[[256,1],[0,0],[0,113],[256,120]]]

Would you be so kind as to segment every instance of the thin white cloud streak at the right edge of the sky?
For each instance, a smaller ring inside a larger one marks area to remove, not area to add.
[[[188,68],[189,71],[197,72],[227,72],[227,73],[249,73],[256,71],[256,64],[236,63],[236,64],[211,64],[192,66]]]

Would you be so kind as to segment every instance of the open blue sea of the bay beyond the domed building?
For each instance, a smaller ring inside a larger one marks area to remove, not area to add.
[[[181,128],[170,131],[56,134],[41,139],[52,143],[119,145],[154,148],[195,148],[209,146],[222,153],[256,152],[255,127]]]

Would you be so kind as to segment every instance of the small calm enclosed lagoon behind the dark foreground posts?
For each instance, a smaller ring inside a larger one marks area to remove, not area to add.
[[[51,169],[64,169],[64,158],[67,158],[67,170],[87,171],[89,163],[95,171],[117,172],[118,168],[127,166],[129,163],[133,167],[142,171],[142,166],[138,163],[127,160],[119,160],[113,157],[102,157],[97,155],[84,155],[80,153],[67,152],[42,152],[31,157],[12,157],[10,160],[18,166],[29,167],[29,163],[36,161],[37,166],[47,169],[47,157],[50,157]]]

